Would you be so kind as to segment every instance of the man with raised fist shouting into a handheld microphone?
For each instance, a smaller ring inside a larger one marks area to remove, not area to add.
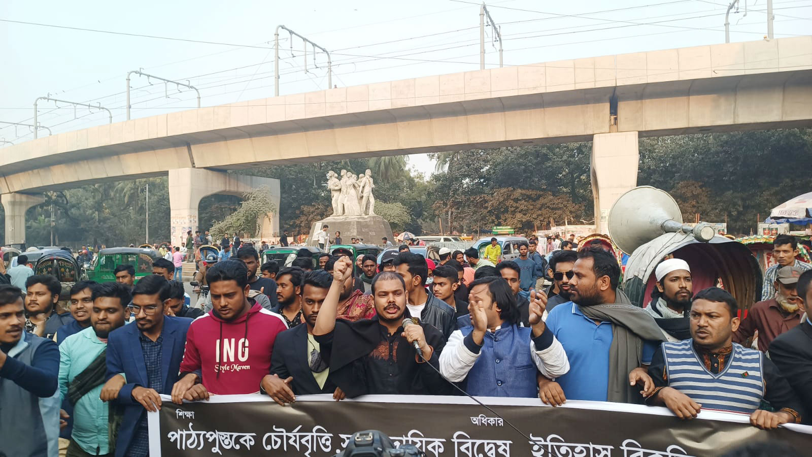
[[[440,376],[443,334],[429,324],[404,326],[407,292],[403,278],[382,272],[372,281],[376,316],[356,322],[336,320],[339,295],[352,275],[352,261],[342,257],[333,268],[333,282],[318,312],[313,336],[330,380],[348,398],[365,394],[449,394]],[[416,346],[420,348],[417,353]]]

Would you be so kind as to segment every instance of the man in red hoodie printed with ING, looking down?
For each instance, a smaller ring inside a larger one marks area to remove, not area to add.
[[[205,273],[212,310],[198,317],[186,334],[181,378],[172,401],[208,399],[211,394],[259,392],[270,372],[270,355],[282,316],[248,298],[248,269],[239,260],[222,260]],[[250,343],[250,344],[249,344]]]

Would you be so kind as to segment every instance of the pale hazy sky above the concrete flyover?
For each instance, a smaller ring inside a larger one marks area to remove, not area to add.
[[[721,43],[726,8],[726,0],[488,3],[503,35],[505,66]],[[812,0],[775,0],[773,8],[775,37],[812,30]],[[742,0],[739,12],[731,13],[731,41],[766,36],[766,10],[766,0],[750,0],[745,14]],[[125,75],[139,68],[188,80],[200,89],[204,107],[273,96],[279,24],[330,51],[333,84],[339,87],[479,68],[479,7],[468,0],[5,0],[0,4],[0,120],[30,124],[34,99],[49,94],[101,103],[113,111],[114,122],[125,120]],[[487,27],[486,67],[498,67],[491,32]],[[280,94],[327,88],[323,53],[315,55],[314,64],[309,47],[305,73],[303,42],[281,31],[279,47]],[[133,119],[196,107],[188,89],[165,89],[159,81],[137,77],[131,86]],[[60,107],[40,102],[39,122],[54,133],[107,122],[106,112]],[[0,124],[0,147],[6,146],[3,141],[31,138],[27,128]],[[409,166],[427,175],[434,171],[425,155],[410,156]]]

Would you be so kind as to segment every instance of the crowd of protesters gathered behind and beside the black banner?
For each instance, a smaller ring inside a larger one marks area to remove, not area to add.
[[[618,287],[615,256],[594,246],[559,247],[547,262],[521,243],[504,260],[494,240],[482,256],[440,250],[438,264],[409,246],[380,264],[314,263],[307,251],[280,269],[228,241],[234,254],[198,278],[208,287],[200,307],[184,301],[168,259],[138,281],[119,266],[116,282],[77,282],[67,298],[53,276],[0,285],[0,424],[15,437],[0,440],[0,455],[148,455],[145,413],[164,406],[162,394],[261,393],[284,406],[305,394],[455,394],[456,383],[552,406],[645,403],[684,420],[719,410],[761,429],[810,424],[812,267],[795,260],[793,237],[775,239],[787,252],[744,319],[727,291],[693,290],[681,259],[657,265],[641,308]]]

